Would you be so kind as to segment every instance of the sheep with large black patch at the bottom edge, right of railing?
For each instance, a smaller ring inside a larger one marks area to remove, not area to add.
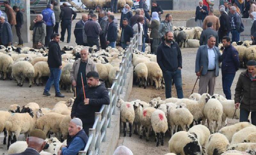
[[[202,147],[194,135],[186,131],[179,131],[169,140],[169,151],[180,155],[196,155],[202,154]]]

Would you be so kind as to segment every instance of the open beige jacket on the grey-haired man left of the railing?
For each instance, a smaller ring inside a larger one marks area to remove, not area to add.
[[[71,82],[73,80],[76,81],[76,79],[77,79],[77,73],[79,70],[80,61],[81,61],[81,58],[76,60],[73,64],[72,70],[70,71]],[[85,74],[87,74],[90,71],[97,72],[97,68],[96,68],[95,64],[93,63],[93,61],[90,58],[88,58],[86,68],[85,68]],[[86,79],[86,82],[87,82],[87,79]]]

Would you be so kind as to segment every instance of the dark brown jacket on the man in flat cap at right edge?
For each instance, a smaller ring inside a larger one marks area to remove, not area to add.
[[[241,103],[240,108],[256,111],[256,80],[251,81],[248,71],[239,75],[235,89],[235,103]],[[235,106],[235,105],[234,105]]]

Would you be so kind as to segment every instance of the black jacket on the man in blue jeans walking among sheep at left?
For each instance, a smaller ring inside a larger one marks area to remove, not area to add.
[[[60,45],[55,41],[49,43],[49,52],[48,52],[48,66],[49,68],[59,68],[61,66],[61,53]]]

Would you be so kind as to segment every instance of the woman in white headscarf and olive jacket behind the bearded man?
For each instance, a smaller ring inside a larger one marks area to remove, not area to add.
[[[151,29],[150,38],[153,39],[151,44],[151,53],[156,54],[157,47],[159,45],[158,29],[160,25],[160,19],[157,12],[152,12],[151,24],[148,24],[148,28]]]

